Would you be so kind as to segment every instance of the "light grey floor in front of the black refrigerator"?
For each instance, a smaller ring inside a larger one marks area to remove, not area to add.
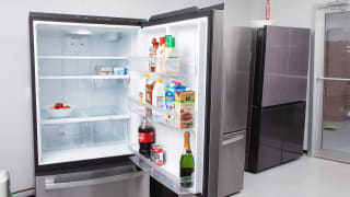
[[[350,164],[303,157],[259,174],[245,173],[244,187],[232,197],[348,197]]]

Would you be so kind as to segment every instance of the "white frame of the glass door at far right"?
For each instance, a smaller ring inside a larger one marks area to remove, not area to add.
[[[336,160],[340,162],[350,163],[350,153],[341,153],[332,150],[322,149],[323,135],[323,114],[324,114],[324,81],[325,80],[341,80],[339,78],[325,78],[325,25],[326,14],[350,12],[349,7],[341,9],[318,9],[316,11],[316,26],[315,26],[315,47],[314,47],[314,74],[313,74],[313,116],[312,116],[312,132],[310,155]],[[350,79],[343,79],[350,81]],[[350,141],[349,141],[350,142]]]

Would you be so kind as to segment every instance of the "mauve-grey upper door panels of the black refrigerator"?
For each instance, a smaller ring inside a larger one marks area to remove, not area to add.
[[[262,107],[306,100],[310,30],[267,26]]]

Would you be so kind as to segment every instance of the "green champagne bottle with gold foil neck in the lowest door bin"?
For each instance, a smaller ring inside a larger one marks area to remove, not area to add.
[[[180,185],[183,187],[191,187],[194,182],[192,173],[195,171],[195,159],[190,150],[188,131],[184,134],[184,138],[185,138],[184,152],[179,161]]]

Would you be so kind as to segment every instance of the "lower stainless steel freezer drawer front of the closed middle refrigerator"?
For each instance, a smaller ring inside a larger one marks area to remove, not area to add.
[[[243,188],[246,131],[223,136],[219,164],[219,197]]]

